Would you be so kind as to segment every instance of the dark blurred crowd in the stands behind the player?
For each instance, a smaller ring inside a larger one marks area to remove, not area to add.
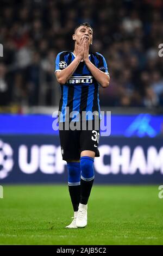
[[[74,27],[83,22],[93,27],[90,51],[108,63],[101,105],[163,106],[161,0],[1,0],[0,106],[57,103],[55,57],[73,50]]]

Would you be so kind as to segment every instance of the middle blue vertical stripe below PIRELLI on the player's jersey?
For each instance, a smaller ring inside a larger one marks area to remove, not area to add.
[[[80,112],[80,99],[82,94],[82,86],[74,86],[74,96],[73,96],[73,109],[72,111]],[[73,121],[79,121],[79,115],[72,119]]]

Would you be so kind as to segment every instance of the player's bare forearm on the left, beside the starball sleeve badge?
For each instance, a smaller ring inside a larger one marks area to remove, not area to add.
[[[71,64],[67,66],[67,68],[57,72],[57,81],[60,84],[65,84],[66,81],[73,75],[74,71],[76,71],[81,60],[82,58],[76,56]]]

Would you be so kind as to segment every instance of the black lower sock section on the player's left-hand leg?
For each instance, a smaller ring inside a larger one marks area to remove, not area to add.
[[[80,185],[68,186],[68,190],[70,193],[73,210],[78,211],[78,207],[79,207],[79,203],[80,203]]]

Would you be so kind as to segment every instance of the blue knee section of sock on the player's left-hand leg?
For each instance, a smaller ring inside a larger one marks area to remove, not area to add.
[[[68,184],[69,185],[79,185],[80,182],[80,163],[78,162],[68,162]]]

